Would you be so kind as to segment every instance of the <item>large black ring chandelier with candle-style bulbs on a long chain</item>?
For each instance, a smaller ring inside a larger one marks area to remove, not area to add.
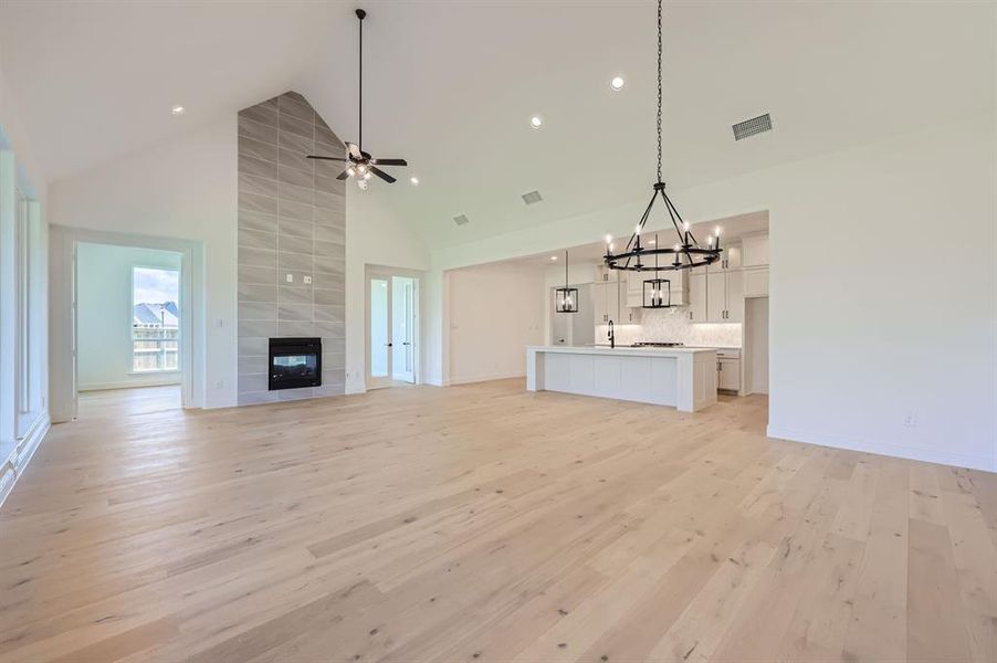
[[[651,209],[654,207],[654,202],[657,202],[659,194],[664,201],[664,209],[668,210],[668,215],[672,220],[672,225],[675,229],[679,241],[674,245],[667,248],[662,248],[657,241],[654,242],[653,248],[642,246],[640,243],[640,233],[648,222],[648,217],[651,214]],[[654,256],[654,264],[644,264],[644,259],[650,257],[651,255]],[[659,255],[669,256],[669,262],[659,265]],[[675,206],[672,203],[671,199],[669,199],[668,193],[664,192],[664,182],[661,181],[661,0],[658,0],[658,179],[654,182],[648,209],[644,210],[643,215],[640,218],[640,222],[633,230],[633,234],[630,235],[630,241],[627,242],[625,251],[621,253],[613,253],[612,236],[607,236],[606,255],[604,260],[606,261],[606,266],[610,270],[657,273],[690,270],[692,267],[709,265],[720,260],[720,233],[717,233],[715,238],[712,235],[709,236],[703,244],[700,244],[699,240],[696,240],[695,235],[689,229],[689,223],[682,220],[679,210],[675,209]],[[652,281],[661,280],[655,278]],[[649,287],[648,283],[650,282],[644,282],[646,291]],[[655,306],[655,308],[657,307],[658,306]]]

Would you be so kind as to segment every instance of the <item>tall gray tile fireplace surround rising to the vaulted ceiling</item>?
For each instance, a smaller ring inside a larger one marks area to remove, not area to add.
[[[345,389],[345,148],[287,92],[239,113],[239,404]],[[306,281],[311,280],[311,283]],[[271,337],[322,338],[322,386],[267,390]]]

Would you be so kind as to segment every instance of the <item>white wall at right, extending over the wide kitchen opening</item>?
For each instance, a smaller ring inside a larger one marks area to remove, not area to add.
[[[986,114],[673,192],[691,222],[769,211],[773,435],[997,470],[995,139]],[[430,282],[596,241],[641,212],[442,249]],[[443,311],[445,290],[430,296]],[[429,370],[445,375],[432,330]]]

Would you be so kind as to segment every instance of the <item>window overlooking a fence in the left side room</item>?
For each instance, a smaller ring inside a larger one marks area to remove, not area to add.
[[[180,272],[132,269],[132,369],[177,370],[180,338]]]

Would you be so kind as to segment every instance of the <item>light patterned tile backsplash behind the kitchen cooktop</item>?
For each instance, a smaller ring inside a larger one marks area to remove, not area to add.
[[[616,325],[616,341],[629,345],[643,340],[678,341],[688,346],[741,347],[741,324],[725,323],[692,324],[689,309],[647,308],[639,325]],[[596,343],[604,343],[609,328],[596,327]]]

